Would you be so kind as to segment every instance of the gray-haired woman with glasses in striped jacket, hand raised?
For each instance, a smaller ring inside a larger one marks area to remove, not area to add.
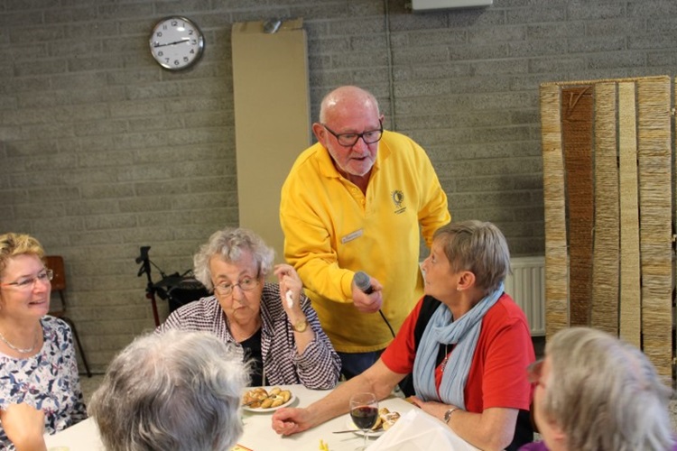
[[[211,235],[193,262],[195,277],[214,295],[175,310],[156,332],[208,330],[236,343],[252,363],[253,386],[332,388],[338,382],[338,354],[298,274],[288,264],[273,268],[273,258],[273,249],[250,230],[225,228]],[[272,270],[278,283],[265,281]]]

